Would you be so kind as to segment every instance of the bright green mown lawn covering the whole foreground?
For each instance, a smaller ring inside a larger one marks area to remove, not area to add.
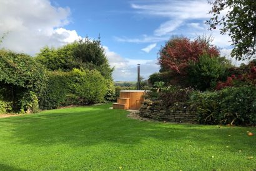
[[[139,121],[110,106],[1,118],[0,170],[256,169],[255,127]]]

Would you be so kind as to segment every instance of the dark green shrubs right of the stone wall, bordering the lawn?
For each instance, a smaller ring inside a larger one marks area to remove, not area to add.
[[[203,124],[256,124],[256,87],[229,87],[192,96]]]

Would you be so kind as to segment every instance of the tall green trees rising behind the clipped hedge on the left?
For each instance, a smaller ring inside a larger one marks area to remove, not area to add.
[[[44,47],[37,53],[36,60],[48,70],[71,71],[73,68],[99,70],[106,79],[112,79],[112,72],[100,40],[86,38],[64,45],[58,49]]]

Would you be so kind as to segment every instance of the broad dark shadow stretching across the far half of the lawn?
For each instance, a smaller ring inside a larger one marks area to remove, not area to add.
[[[4,127],[11,129],[12,142],[37,146],[93,146],[106,143],[133,146],[153,138],[176,144],[188,141],[199,145],[224,146],[231,141],[252,150],[255,148],[252,146],[255,137],[244,138],[245,127],[220,129],[216,126],[145,122],[127,118],[126,114],[127,111],[107,109],[106,106],[61,109],[52,113],[0,119],[0,130]],[[229,134],[232,136],[229,137]]]

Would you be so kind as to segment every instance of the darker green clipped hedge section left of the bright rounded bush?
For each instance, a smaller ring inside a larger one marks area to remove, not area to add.
[[[47,86],[39,96],[40,109],[56,109],[72,103],[67,101],[71,76],[69,72],[47,72]]]

